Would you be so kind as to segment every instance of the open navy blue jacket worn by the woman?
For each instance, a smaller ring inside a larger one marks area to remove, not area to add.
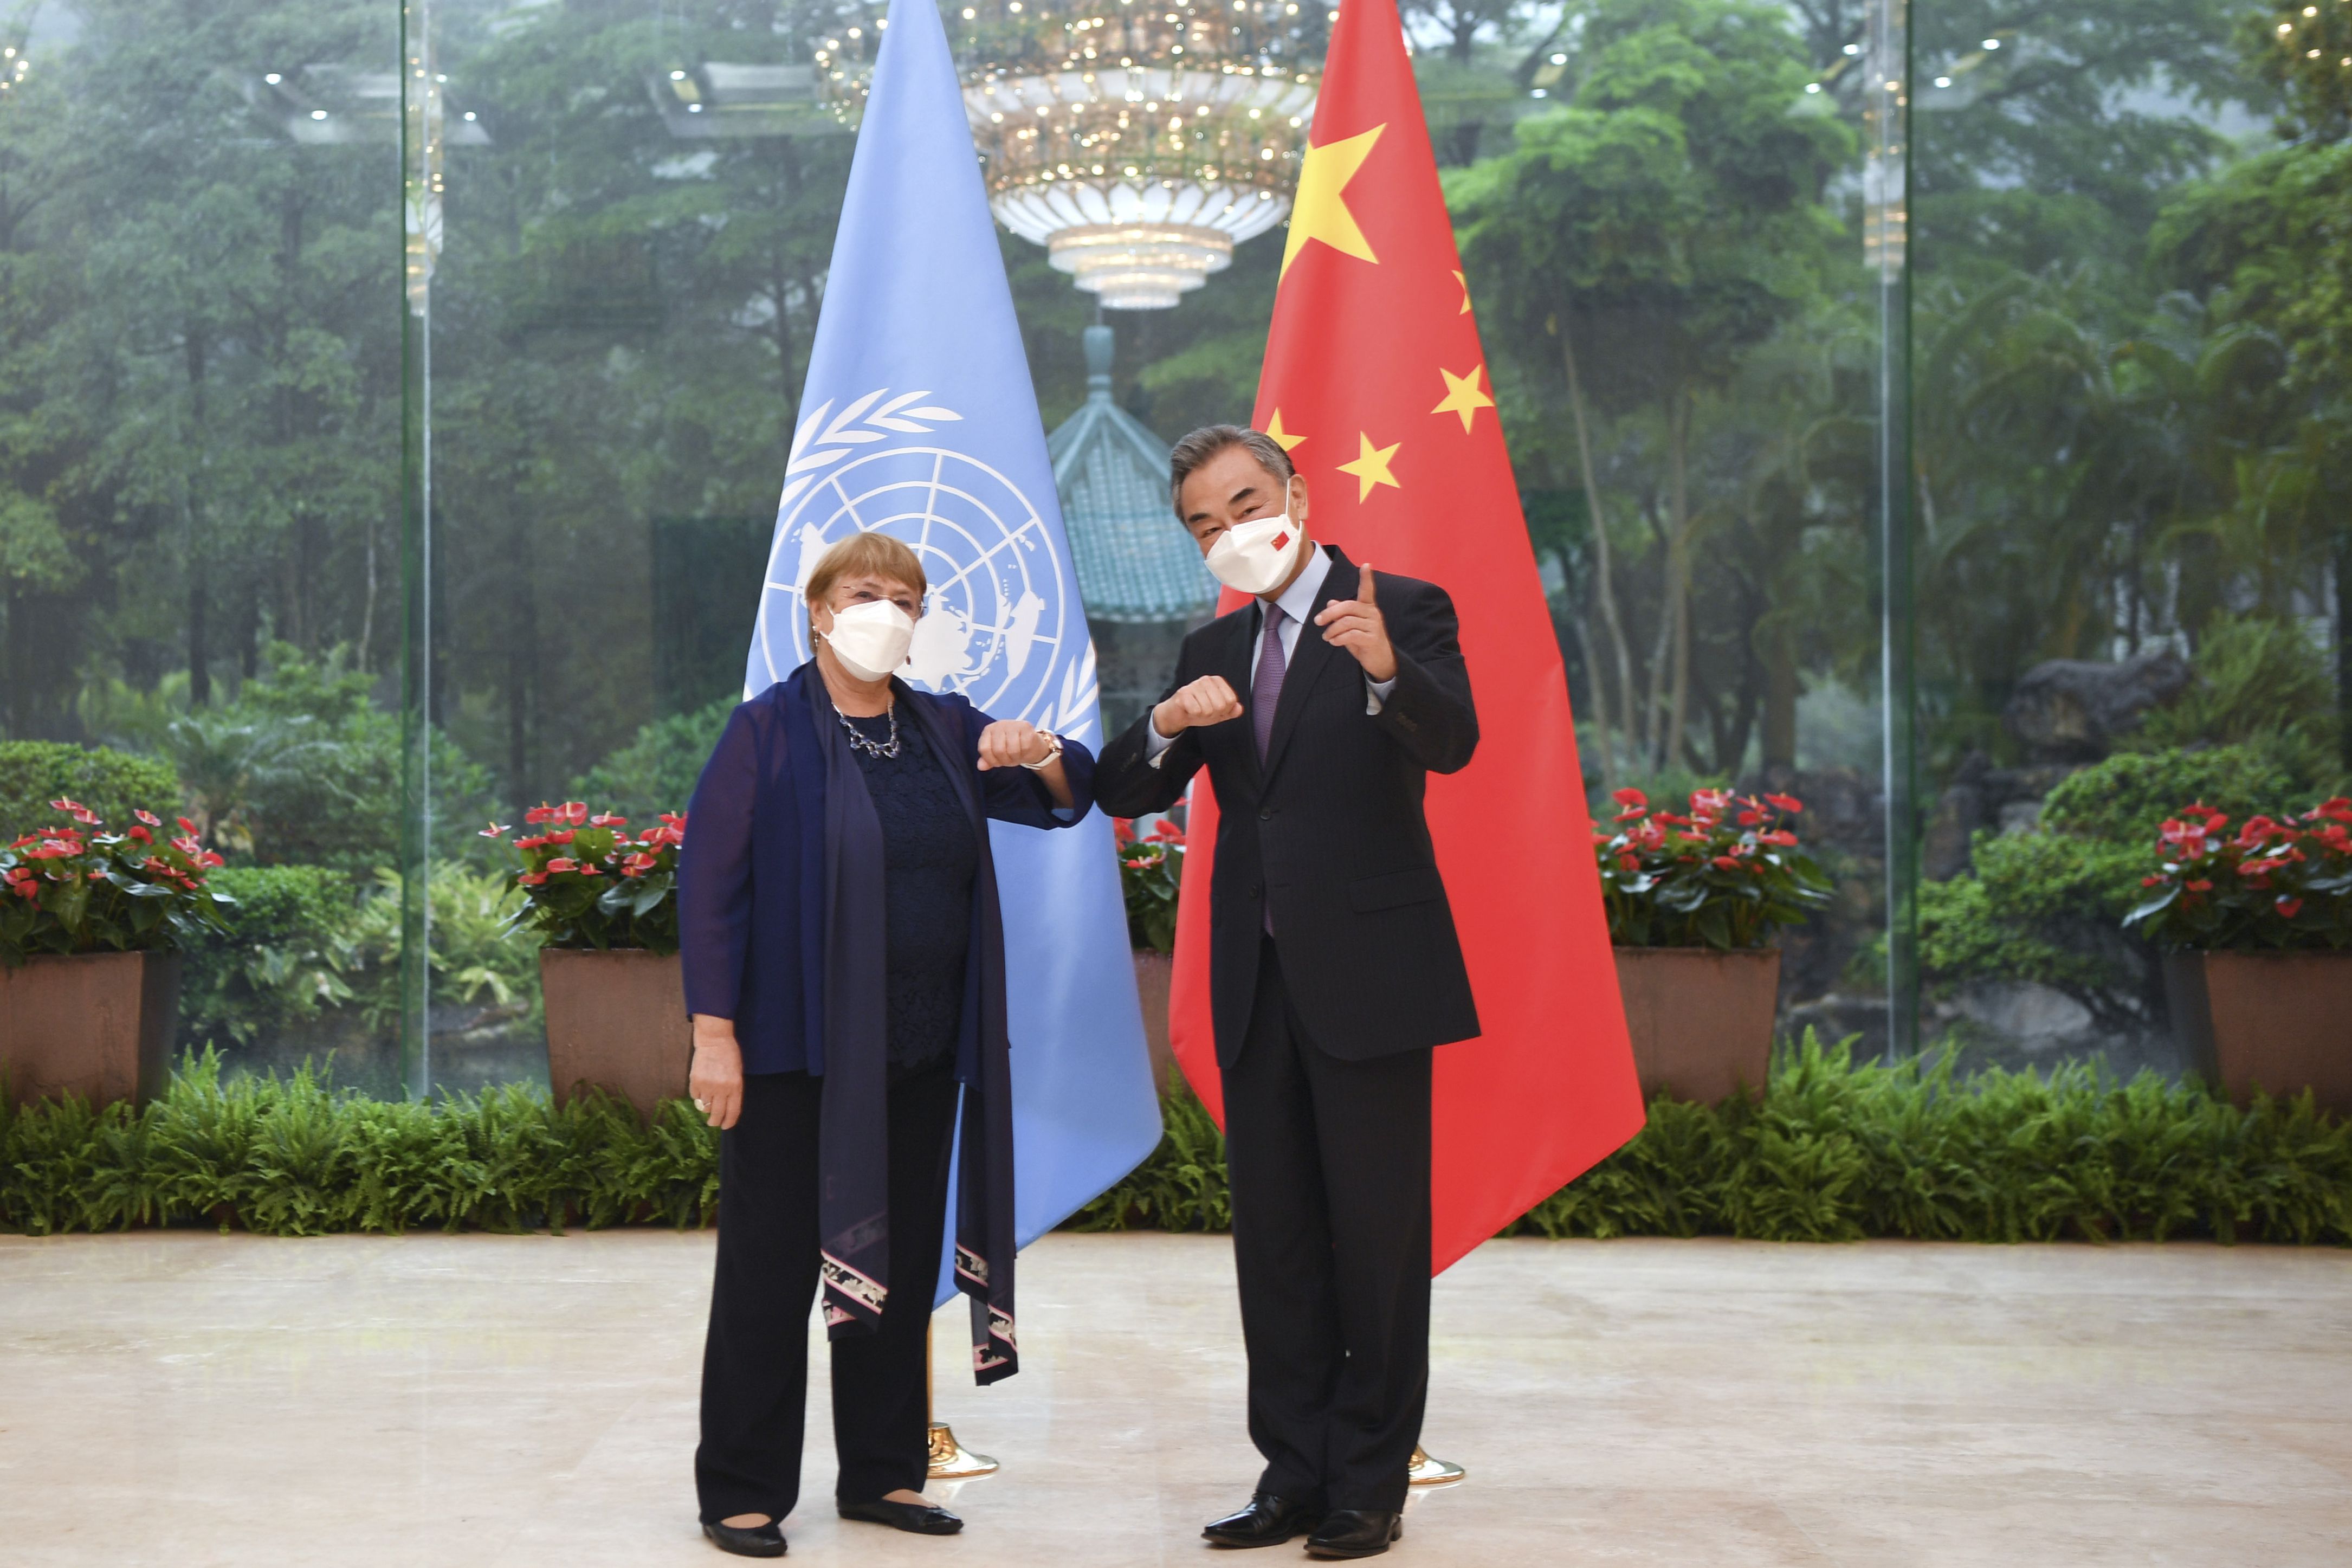
[[[797,672],[795,672],[797,675]],[[703,764],[687,809],[687,842],[677,851],[677,952],[687,1011],[731,1018],[743,1048],[743,1072],[823,1072],[826,999],[811,976],[823,973],[826,931],[826,769],[814,717],[783,679],[741,703]],[[981,813],[1023,827],[1068,827],[1094,804],[1094,755],[1063,738],[1061,762],[1075,809],[1054,797],[1028,769],[978,766],[981,731],[993,722],[962,696],[931,696],[894,682],[901,705],[920,705],[931,733],[962,736],[938,748],[948,766],[964,769],[962,795]],[[903,719],[915,715],[903,712]],[[830,712],[826,715],[830,722]],[[974,823],[985,832],[985,823]],[[969,976],[1002,966],[997,884],[990,856],[978,860]],[[1004,997],[1004,978],[967,985],[967,999]],[[969,1011],[967,1001],[967,1011]],[[1002,1025],[1000,1025],[1002,1027]],[[964,1018],[957,1053],[969,1077],[983,1020]]]

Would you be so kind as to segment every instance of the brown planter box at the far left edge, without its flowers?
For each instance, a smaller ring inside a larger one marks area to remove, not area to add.
[[[75,952],[0,969],[0,1077],[9,1100],[146,1103],[172,1074],[176,952]]]

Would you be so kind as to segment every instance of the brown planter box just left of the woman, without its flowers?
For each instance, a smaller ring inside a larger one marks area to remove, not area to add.
[[[548,999],[548,1088],[555,1100],[595,1084],[652,1119],[687,1093],[694,1025],[675,952],[541,947]]]

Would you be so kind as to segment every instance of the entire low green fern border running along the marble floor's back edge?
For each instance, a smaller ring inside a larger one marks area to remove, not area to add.
[[[647,1126],[602,1095],[534,1088],[433,1103],[310,1072],[223,1079],[186,1058],[134,1112],[0,1098],[0,1225],[33,1234],[212,1222],[266,1234],[708,1225],[717,1135],[666,1100]],[[1167,1135],[1073,1229],[1228,1229],[1225,1145],[1190,1091]],[[1759,1241],[2352,1244],[2352,1124],[2296,1100],[2249,1110],[2197,1084],[2093,1067],[1955,1079],[1952,1056],[1856,1065],[1811,1034],[1762,1095],[1658,1098],[1649,1124],[1505,1234]]]

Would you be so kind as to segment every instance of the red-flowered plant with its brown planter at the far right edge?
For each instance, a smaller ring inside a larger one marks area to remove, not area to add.
[[[2204,804],[2157,830],[2150,898],[2124,917],[2164,950],[2192,1070],[2232,1100],[2305,1088],[2352,1114],[2352,799],[2251,816]]]

